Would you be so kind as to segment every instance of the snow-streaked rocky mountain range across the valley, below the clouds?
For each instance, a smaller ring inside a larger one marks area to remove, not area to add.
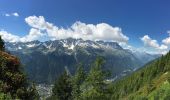
[[[101,56],[112,78],[125,76],[160,55],[122,48],[116,42],[61,39],[54,41],[6,42],[6,49],[20,58],[29,78],[36,83],[53,83],[68,68],[74,72],[79,63],[86,71]]]

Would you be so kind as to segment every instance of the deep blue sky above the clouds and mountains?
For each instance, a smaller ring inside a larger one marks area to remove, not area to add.
[[[32,28],[25,18],[33,15],[43,16],[46,22],[59,28],[68,28],[76,21],[93,25],[107,23],[121,28],[129,38],[128,45],[142,48],[145,44],[153,47],[152,50],[161,45],[169,48],[168,39],[162,42],[169,38],[169,5],[169,0],[1,0],[0,29],[23,37]],[[145,35],[148,37],[142,41],[140,38]]]

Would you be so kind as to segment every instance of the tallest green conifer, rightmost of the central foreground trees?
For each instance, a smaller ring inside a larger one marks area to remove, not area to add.
[[[99,57],[96,59],[91,67],[89,74],[82,87],[83,93],[81,94],[81,99],[83,100],[107,100],[106,93],[106,83],[107,73],[103,70],[102,66],[104,60]]]

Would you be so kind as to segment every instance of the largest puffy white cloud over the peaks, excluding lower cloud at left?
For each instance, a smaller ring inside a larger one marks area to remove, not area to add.
[[[47,32],[50,39],[65,39],[68,37],[85,40],[106,40],[126,43],[129,38],[122,33],[121,28],[112,27],[106,23],[97,25],[75,22],[70,28],[59,28],[46,22],[43,16],[25,18],[29,26]]]

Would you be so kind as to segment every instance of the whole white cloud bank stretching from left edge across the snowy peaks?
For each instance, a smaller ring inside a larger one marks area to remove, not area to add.
[[[52,23],[46,22],[43,16],[30,16],[25,22],[31,27],[27,35],[20,37],[1,30],[0,35],[8,42],[27,42],[41,40],[44,37],[50,40],[82,38],[84,40],[105,40],[118,43],[127,43],[129,38],[122,33],[121,28],[112,27],[106,23],[85,24],[75,22],[69,28],[59,28]]]

